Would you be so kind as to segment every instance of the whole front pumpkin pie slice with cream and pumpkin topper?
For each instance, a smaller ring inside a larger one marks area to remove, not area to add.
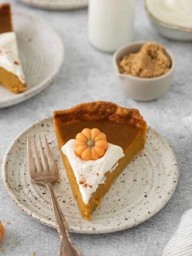
[[[90,220],[111,184],[144,148],[147,124],[137,109],[101,101],[54,111],[53,119],[79,211]]]

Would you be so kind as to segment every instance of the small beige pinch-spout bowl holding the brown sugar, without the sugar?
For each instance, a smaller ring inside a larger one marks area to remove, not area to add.
[[[128,98],[140,101],[149,101],[161,97],[171,86],[175,69],[173,54],[166,50],[172,61],[171,69],[166,74],[154,78],[140,78],[121,74],[117,62],[122,60],[124,55],[139,52],[142,45],[146,43],[134,42],[127,44],[117,50],[113,56],[113,65],[119,87]]]

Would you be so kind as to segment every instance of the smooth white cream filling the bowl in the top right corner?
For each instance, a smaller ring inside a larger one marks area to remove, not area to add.
[[[192,28],[191,0],[147,0],[146,4],[155,18],[170,25]]]

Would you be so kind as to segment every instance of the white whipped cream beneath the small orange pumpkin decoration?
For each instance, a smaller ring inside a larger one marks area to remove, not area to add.
[[[83,202],[89,203],[89,199],[98,186],[105,182],[105,174],[114,171],[118,160],[124,156],[123,149],[119,146],[109,144],[103,157],[97,160],[84,161],[75,154],[75,140],[69,140],[62,148],[63,154],[68,158],[74,171]]]

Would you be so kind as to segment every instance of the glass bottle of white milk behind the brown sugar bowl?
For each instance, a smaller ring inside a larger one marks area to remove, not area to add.
[[[132,41],[134,0],[89,0],[89,40],[97,49],[115,52]]]

